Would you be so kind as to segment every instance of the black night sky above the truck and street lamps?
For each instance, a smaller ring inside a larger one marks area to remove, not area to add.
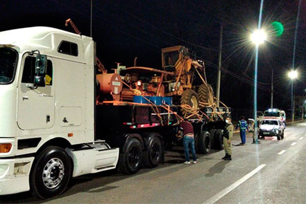
[[[304,94],[306,63],[306,2],[301,0],[295,49],[296,94]],[[293,50],[299,1],[265,0],[262,27],[268,40],[260,46],[258,109],[270,107],[271,71],[274,70],[274,107],[290,109]],[[65,27],[71,18],[82,35],[97,43],[97,56],[109,70],[120,62],[161,68],[161,48],[184,45],[206,62],[208,82],[216,90],[220,25],[223,25],[220,100],[233,108],[253,108],[254,45],[250,32],[258,26],[260,1],[91,1],[2,0],[0,31],[47,26]],[[276,37],[271,23],[282,22]]]

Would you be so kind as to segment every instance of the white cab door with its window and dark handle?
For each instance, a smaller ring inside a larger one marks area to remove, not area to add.
[[[52,59],[47,60],[46,86],[33,87],[35,56],[24,55],[19,78],[17,123],[22,130],[52,127],[55,116]]]

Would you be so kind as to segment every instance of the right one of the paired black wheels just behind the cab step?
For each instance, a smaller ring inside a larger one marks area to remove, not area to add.
[[[158,137],[151,137],[147,150],[143,154],[143,165],[147,168],[155,168],[163,160],[163,145]]]

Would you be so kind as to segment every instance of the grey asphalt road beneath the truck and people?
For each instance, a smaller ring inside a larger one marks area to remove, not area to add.
[[[198,163],[184,165],[182,147],[166,152],[165,163],[134,175],[115,171],[80,176],[62,195],[39,200],[30,193],[0,197],[0,203],[305,203],[306,122],[287,125],[285,139],[276,137],[238,146],[233,160],[224,151],[198,155]],[[236,145],[236,146],[235,146]]]

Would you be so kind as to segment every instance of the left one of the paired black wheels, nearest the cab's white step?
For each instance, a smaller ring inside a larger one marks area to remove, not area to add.
[[[134,174],[139,171],[142,165],[142,144],[132,138],[128,141],[124,153],[120,154],[118,171],[124,174]]]

